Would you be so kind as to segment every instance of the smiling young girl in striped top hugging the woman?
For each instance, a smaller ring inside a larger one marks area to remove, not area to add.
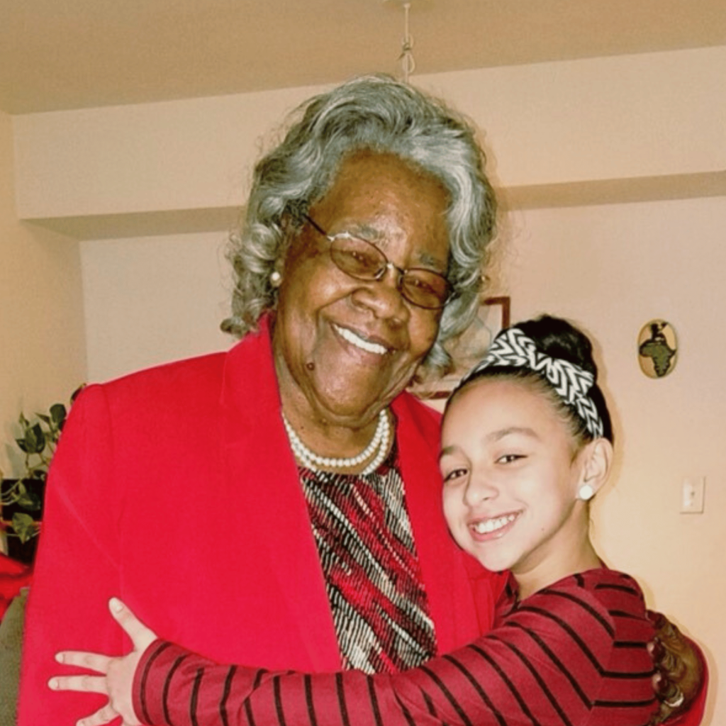
[[[511,573],[494,629],[467,648],[395,675],[221,666],[156,640],[117,600],[134,652],[61,653],[104,675],[51,687],[108,694],[81,726],[117,714],[175,726],[647,724],[658,703],[643,594],[603,565],[588,531],[613,455],[596,378],[590,340],[542,317],[497,335],[449,399],[446,520],[484,567]]]

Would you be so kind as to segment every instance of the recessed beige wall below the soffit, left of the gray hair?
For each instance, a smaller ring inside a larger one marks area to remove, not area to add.
[[[229,347],[226,246],[224,232],[81,242],[89,378]]]

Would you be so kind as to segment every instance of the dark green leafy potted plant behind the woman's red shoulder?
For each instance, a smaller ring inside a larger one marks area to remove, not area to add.
[[[35,557],[48,467],[66,414],[64,404],[54,404],[33,419],[23,413],[18,418],[21,435],[15,442],[23,452],[24,467],[19,478],[0,481],[0,526],[7,536],[8,555],[20,562],[31,563]]]

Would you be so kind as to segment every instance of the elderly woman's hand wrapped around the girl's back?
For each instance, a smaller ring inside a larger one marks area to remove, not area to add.
[[[656,628],[656,637],[648,645],[656,674],[653,688],[660,701],[660,711],[653,724],[688,711],[703,683],[703,664],[693,643],[661,613],[648,611]]]

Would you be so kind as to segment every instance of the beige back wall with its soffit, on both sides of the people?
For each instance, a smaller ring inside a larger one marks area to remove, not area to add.
[[[416,79],[486,131],[513,208],[502,276],[514,316],[563,314],[600,341],[622,458],[595,507],[597,542],[706,645],[714,725],[726,723],[725,77],[722,46]],[[90,379],[227,346],[231,210],[260,137],[311,90],[15,118],[21,216],[86,240]],[[653,317],[681,343],[656,381],[635,357]],[[678,513],[685,476],[706,476],[703,515]]]

